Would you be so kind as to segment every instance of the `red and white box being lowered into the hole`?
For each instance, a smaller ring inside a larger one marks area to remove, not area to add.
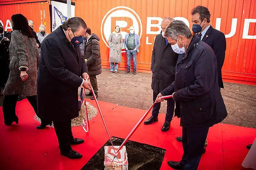
[[[119,146],[114,146],[115,152],[118,150]],[[104,146],[105,150],[105,160],[104,166],[105,170],[128,170],[128,158],[126,147],[123,146],[122,149],[116,154],[112,146]]]

